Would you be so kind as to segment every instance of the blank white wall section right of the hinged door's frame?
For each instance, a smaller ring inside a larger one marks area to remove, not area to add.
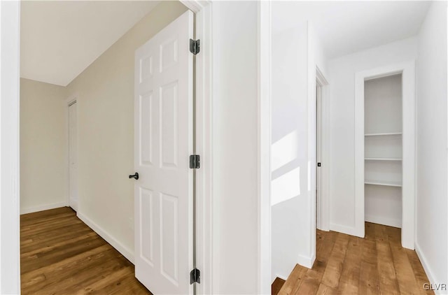
[[[213,294],[258,294],[258,3],[213,13]]]

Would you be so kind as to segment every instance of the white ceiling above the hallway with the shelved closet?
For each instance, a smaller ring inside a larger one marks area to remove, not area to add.
[[[430,1],[274,1],[272,33],[311,21],[328,59],[418,34]]]

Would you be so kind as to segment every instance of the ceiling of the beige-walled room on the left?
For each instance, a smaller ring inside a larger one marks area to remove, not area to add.
[[[160,1],[22,1],[20,76],[66,86]]]

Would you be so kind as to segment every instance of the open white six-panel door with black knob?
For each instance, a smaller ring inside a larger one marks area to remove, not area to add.
[[[193,13],[135,53],[135,275],[153,294],[190,293],[193,266]]]

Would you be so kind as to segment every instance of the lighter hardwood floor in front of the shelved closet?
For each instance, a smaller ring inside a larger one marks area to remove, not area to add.
[[[419,257],[401,247],[400,229],[366,222],[365,238],[335,231],[316,238],[313,268],[297,264],[279,295],[433,294],[423,289],[428,278]]]

